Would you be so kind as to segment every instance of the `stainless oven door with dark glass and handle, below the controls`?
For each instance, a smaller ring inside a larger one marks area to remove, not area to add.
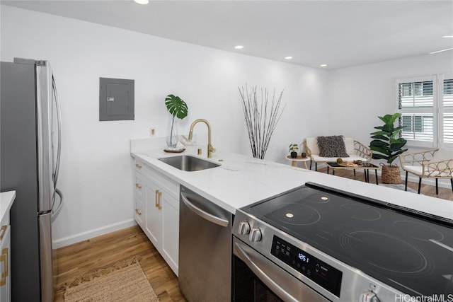
[[[329,301],[233,237],[233,301]]]

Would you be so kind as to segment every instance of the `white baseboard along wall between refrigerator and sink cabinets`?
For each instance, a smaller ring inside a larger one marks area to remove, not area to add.
[[[74,243],[78,243],[84,240],[88,240],[94,237],[102,236],[108,233],[112,233],[115,231],[119,231],[122,228],[129,228],[130,226],[136,226],[137,223],[134,219],[128,219],[125,221],[120,221],[117,223],[110,224],[108,226],[103,226],[101,228],[94,228],[93,230],[78,233],[73,236],[67,236],[64,238],[60,238],[57,240],[52,240],[52,247],[55,248],[62,248],[67,245],[71,245]]]

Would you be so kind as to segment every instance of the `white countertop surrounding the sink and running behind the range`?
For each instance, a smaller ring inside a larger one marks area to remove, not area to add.
[[[203,152],[205,152],[205,149],[203,149]],[[222,165],[195,172],[178,170],[158,159],[183,154],[197,156],[195,150],[195,148],[188,148],[184,153],[175,154],[165,153],[162,149],[142,149],[134,152],[132,148],[132,156],[142,159],[160,173],[189,187],[190,190],[210,199],[231,213],[235,213],[236,209],[248,204],[304,185],[305,182],[316,182],[346,192],[379,199],[383,202],[453,219],[453,202],[449,200],[404,192],[403,190],[378,186],[374,183],[350,180],[239,154],[213,153],[209,160]],[[200,157],[207,159],[206,155]]]

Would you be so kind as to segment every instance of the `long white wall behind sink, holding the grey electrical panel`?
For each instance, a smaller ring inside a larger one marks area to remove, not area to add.
[[[327,134],[326,71],[198,47],[10,6],[1,9],[1,61],[47,59],[62,103],[58,187],[65,204],[55,221],[58,245],[133,223],[129,143],[149,127],[166,135],[166,95],[189,106],[180,133],[203,117],[217,151],[251,154],[238,86],[275,87],[287,108],[266,159],[285,163],[287,146]],[[135,120],[99,122],[99,77],[135,80]],[[204,137],[197,125],[197,137]],[[199,141],[200,142],[200,141]]]

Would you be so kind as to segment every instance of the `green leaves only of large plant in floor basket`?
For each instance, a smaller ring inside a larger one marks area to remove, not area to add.
[[[391,163],[403,152],[406,152],[408,149],[403,149],[403,146],[406,145],[406,139],[401,137],[401,130],[403,127],[395,127],[395,121],[401,117],[401,113],[395,113],[394,115],[384,115],[379,117],[384,126],[374,127],[379,131],[370,133],[372,134],[372,141],[369,144],[369,149],[372,149],[373,159],[385,159],[387,163]]]

